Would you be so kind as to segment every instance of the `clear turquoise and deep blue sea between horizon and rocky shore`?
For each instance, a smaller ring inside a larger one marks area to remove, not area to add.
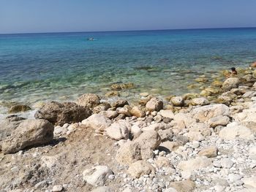
[[[199,75],[252,61],[256,28],[1,34],[0,101],[104,96],[115,82],[135,84],[123,97],[177,95]]]

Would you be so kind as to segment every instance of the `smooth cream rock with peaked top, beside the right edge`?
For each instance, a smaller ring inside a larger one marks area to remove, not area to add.
[[[252,131],[246,126],[241,126],[236,122],[229,123],[227,127],[219,131],[219,137],[222,139],[232,140],[237,138],[253,139]]]

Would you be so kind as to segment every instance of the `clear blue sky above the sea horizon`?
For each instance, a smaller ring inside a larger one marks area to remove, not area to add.
[[[0,34],[256,26],[256,0],[0,0]]]

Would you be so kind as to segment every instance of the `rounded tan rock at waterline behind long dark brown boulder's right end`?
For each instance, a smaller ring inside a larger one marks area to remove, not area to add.
[[[96,94],[86,93],[80,96],[76,103],[83,107],[94,108],[100,104],[100,98]]]

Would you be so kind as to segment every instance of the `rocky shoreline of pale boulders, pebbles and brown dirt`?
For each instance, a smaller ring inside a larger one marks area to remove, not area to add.
[[[238,74],[208,87],[198,77],[200,94],[165,101],[86,93],[44,104],[35,119],[10,115],[0,124],[0,191],[256,191],[256,72]]]

